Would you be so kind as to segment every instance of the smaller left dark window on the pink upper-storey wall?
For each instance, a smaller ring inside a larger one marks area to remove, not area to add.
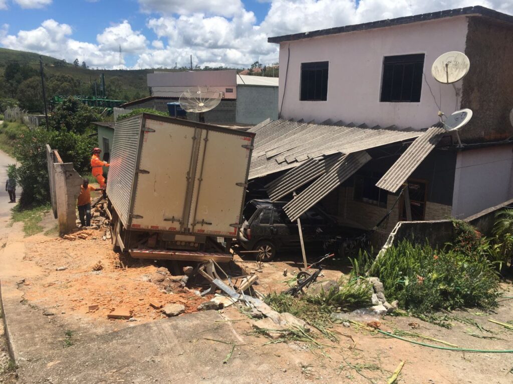
[[[326,101],[328,98],[328,61],[301,64],[302,101]]]

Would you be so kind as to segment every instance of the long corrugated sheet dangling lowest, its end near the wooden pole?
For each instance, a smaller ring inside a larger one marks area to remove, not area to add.
[[[283,207],[290,221],[298,220],[304,212],[357,172],[370,159],[371,157],[365,151],[341,155],[325,175],[315,180]]]

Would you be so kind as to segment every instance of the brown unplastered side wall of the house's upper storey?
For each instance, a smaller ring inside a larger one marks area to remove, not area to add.
[[[465,54],[470,69],[463,79],[462,108],[473,111],[461,130],[463,142],[503,140],[513,135],[513,26],[469,17]]]

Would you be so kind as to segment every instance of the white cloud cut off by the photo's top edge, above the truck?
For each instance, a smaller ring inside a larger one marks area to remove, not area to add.
[[[207,13],[233,16],[243,9],[241,0],[139,0],[139,4],[144,12],[181,15]]]

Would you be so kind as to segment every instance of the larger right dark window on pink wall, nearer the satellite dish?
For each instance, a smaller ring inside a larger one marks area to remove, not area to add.
[[[381,101],[419,102],[424,54],[386,56],[383,60]]]

